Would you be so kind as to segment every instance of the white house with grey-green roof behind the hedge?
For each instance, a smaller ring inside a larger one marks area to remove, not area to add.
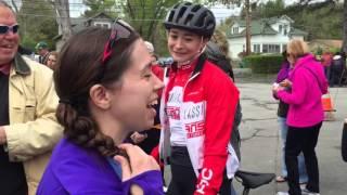
[[[281,53],[291,39],[303,39],[307,32],[293,27],[286,15],[250,22],[250,51],[254,53]],[[246,22],[235,21],[227,31],[230,56],[237,58],[246,50]]]

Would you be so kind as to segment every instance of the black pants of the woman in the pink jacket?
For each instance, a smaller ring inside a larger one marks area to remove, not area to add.
[[[285,142],[285,165],[291,195],[301,195],[297,156],[303,152],[308,174],[306,188],[319,193],[319,170],[314,152],[322,122],[312,127],[297,128],[288,126]]]

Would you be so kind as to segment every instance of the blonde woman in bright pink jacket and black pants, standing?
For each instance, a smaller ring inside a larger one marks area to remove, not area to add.
[[[308,173],[308,183],[303,192],[319,194],[319,170],[314,147],[324,117],[321,96],[327,91],[327,81],[322,65],[307,48],[301,40],[288,42],[287,60],[294,64],[287,81],[292,91],[285,91],[282,87],[273,88],[277,96],[290,104],[285,144],[290,191],[279,192],[278,195],[301,195],[297,162],[300,152],[304,153]]]

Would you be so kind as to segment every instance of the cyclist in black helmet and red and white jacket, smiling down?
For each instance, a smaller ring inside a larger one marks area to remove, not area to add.
[[[234,162],[227,166],[229,177],[239,165],[229,144],[239,91],[228,75],[202,54],[216,26],[211,11],[201,4],[179,3],[164,24],[175,61],[166,74],[160,107],[159,151],[164,160],[170,158],[172,173],[168,194],[216,195],[227,159]]]

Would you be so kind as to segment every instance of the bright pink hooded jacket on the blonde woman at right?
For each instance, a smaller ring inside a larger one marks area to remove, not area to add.
[[[279,91],[278,98],[290,104],[287,125],[311,127],[324,118],[321,96],[327,92],[322,65],[312,54],[300,57],[290,73],[292,91]]]

